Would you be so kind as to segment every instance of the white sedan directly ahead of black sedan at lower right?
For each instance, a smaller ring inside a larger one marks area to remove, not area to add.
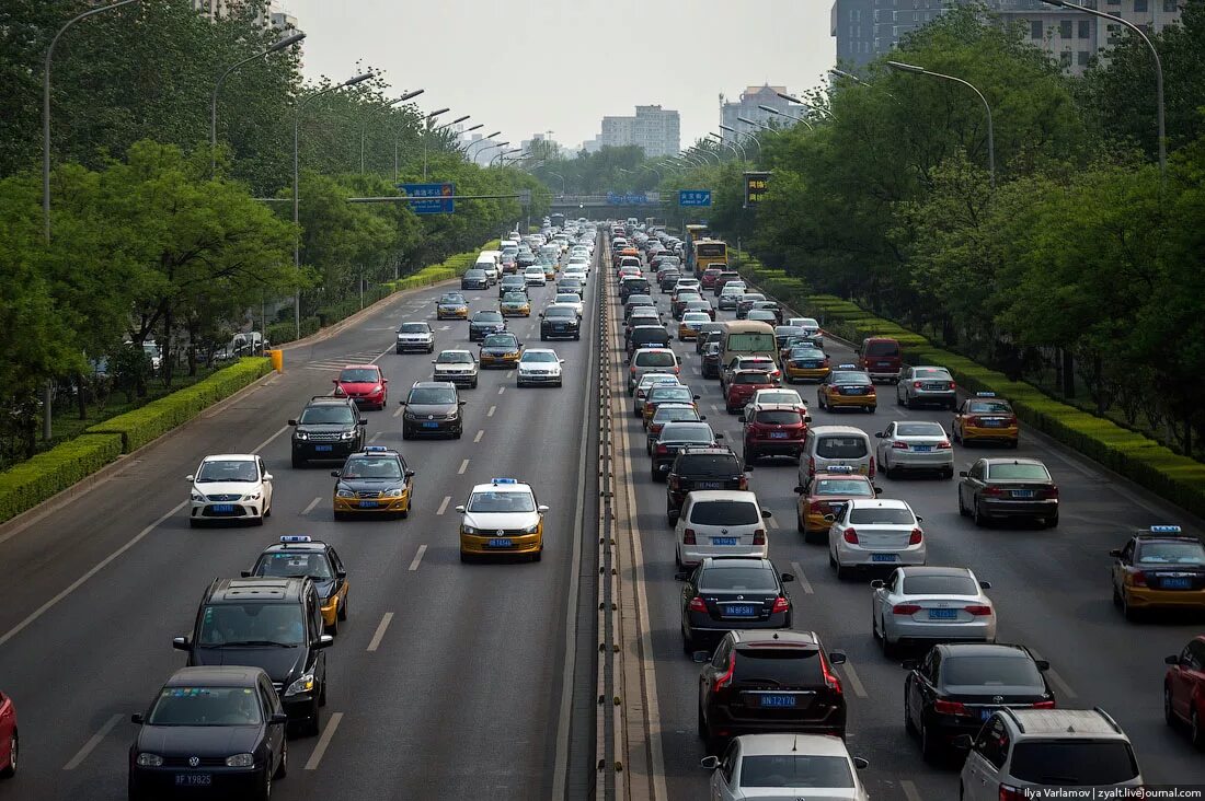
[[[887,656],[900,644],[995,642],[992,585],[966,567],[900,567],[870,587],[870,629]]]

